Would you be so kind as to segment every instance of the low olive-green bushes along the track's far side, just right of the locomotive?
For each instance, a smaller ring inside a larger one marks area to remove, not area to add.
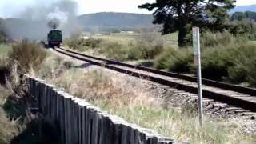
[[[163,42],[156,39],[152,34],[144,34],[141,38],[137,38],[130,43],[113,42],[98,38],[82,39],[78,36],[66,39],[65,43],[71,49],[79,51],[94,50],[96,54],[120,61],[153,59],[164,49]]]

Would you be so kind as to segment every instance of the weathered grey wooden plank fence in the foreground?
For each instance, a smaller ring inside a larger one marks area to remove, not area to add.
[[[106,114],[83,99],[75,98],[44,81],[26,76],[29,93],[38,101],[42,115],[58,127],[65,144],[170,144],[153,130]]]

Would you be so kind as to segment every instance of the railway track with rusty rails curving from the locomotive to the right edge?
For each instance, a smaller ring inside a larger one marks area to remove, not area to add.
[[[63,48],[55,48],[54,50],[78,60],[104,66],[110,70],[138,78],[146,78],[152,82],[157,82],[191,94],[198,93],[197,78],[195,77],[98,58]],[[256,89],[202,79],[202,96],[205,102],[218,103],[219,106],[227,110],[242,113],[242,115],[254,115],[256,112]]]

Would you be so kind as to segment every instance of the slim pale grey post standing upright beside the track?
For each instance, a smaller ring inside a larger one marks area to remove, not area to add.
[[[201,51],[200,51],[200,32],[198,27],[193,27],[193,52],[194,63],[197,66],[198,74],[198,114],[200,126],[202,126],[202,77],[201,77]]]

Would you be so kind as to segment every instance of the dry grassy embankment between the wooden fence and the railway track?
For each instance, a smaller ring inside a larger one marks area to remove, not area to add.
[[[46,58],[43,58],[40,65],[29,64],[28,66],[32,67],[27,69],[27,73],[63,87],[62,90],[69,94],[85,99],[86,102],[106,110],[108,114],[118,115],[126,122],[136,123],[138,126],[155,130],[158,134],[191,143],[255,142],[250,134],[241,134],[241,121],[239,124],[233,119],[209,118],[206,114],[204,126],[201,128],[194,109],[194,96],[182,90],[107,70],[102,66],[74,60],[63,54],[56,56],[56,53],[52,54],[50,50],[46,51]],[[18,62],[22,62],[20,56]],[[33,62],[33,58],[24,59]],[[221,110],[213,111],[212,114],[221,115],[217,114]],[[243,123],[247,127],[252,127],[247,125],[247,122]]]

